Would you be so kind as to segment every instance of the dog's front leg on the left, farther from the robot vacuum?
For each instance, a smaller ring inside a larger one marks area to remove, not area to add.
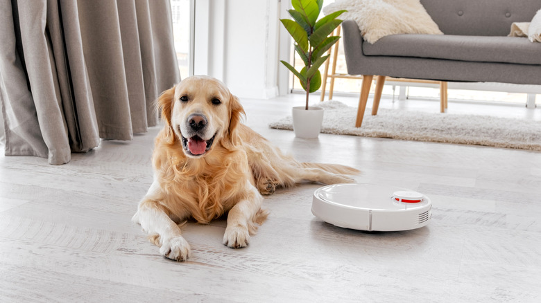
[[[148,232],[151,242],[160,247],[162,256],[185,261],[190,255],[190,246],[182,237],[178,225],[169,217],[169,210],[158,203],[160,199],[163,199],[160,185],[154,182],[139,203],[132,221]]]

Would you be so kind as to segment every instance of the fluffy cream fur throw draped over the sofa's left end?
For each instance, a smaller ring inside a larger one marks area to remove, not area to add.
[[[325,15],[336,10],[347,10],[339,18],[356,21],[372,44],[393,34],[443,35],[420,0],[336,0],[323,8]]]

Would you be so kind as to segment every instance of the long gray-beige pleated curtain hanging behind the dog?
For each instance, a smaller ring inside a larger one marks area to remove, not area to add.
[[[0,0],[6,156],[68,163],[157,124],[180,81],[169,0]],[[2,131],[2,127],[0,127]]]

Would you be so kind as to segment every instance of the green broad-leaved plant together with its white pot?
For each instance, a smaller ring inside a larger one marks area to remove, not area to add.
[[[293,107],[293,131],[299,138],[317,138],[323,122],[323,108],[309,107],[309,94],[321,86],[319,67],[329,55],[325,52],[340,37],[328,37],[342,20],[336,19],[345,10],[338,10],[318,20],[323,0],[292,0],[291,19],[280,19],[284,27],[295,40],[295,51],[302,58],[304,67],[297,71],[291,64],[281,60],[293,75],[300,80],[302,89],[306,91],[306,105]]]

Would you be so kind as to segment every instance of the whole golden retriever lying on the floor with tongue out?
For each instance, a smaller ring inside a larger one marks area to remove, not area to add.
[[[155,139],[154,181],[132,221],[148,232],[160,254],[184,261],[190,246],[179,224],[209,223],[227,214],[223,244],[248,245],[268,212],[261,194],[300,181],[344,183],[357,169],[300,163],[241,123],[239,99],[220,81],[193,76],[157,100],[164,128]]]

